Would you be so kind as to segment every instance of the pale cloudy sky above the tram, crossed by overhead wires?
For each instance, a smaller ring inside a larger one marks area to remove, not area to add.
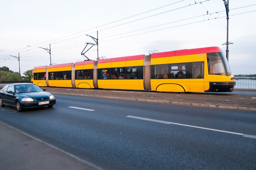
[[[96,44],[97,31],[99,58],[214,46],[226,55],[222,0],[0,0],[0,7],[0,67],[19,72],[20,56],[21,75],[97,59],[97,46],[86,44]],[[229,0],[233,74],[256,74],[255,17],[256,0]]]

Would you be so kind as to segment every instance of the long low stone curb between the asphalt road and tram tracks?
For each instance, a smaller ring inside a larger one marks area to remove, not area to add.
[[[99,98],[105,98],[105,99],[120,99],[120,100],[130,100],[130,101],[139,101],[139,102],[152,102],[152,103],[163,103],[163,104],[172,104],[172,105],[185,105],[185,106],[196,106],[196,107],[205,107],[205,108],[219,108],[219,109],[230,109],[230,110],[256,112],[256,108],[245,108],[245,107],[234,107],[234,106],[223,106],[223,105],[205,105],[205,104],[185,103],[185,102],[168,102],[168,101],[150,100],[150,99],[133,99],[133,98],[86,95],[86,94],[75,94],[75,93],[58,93],[58,92],[51,92],[51,93],[52,94],[74,95],[74,96],[99,97]]]

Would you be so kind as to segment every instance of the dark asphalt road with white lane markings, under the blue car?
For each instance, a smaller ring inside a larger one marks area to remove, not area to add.
[[[0,121],[104,169],[256,169],[255,112],[55,96]]]

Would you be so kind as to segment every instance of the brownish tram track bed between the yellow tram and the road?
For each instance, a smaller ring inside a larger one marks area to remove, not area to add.
[[[256,111],[256,91],[233,93],[159,93],[141,90],[107,90],[46,87],[53,94],[69,94],[106,99],[132,100],[207,108]]]

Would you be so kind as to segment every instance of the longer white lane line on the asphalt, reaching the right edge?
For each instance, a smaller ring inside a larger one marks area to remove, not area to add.
[[[148,119],[148,118],[144,118],[144,117],[136,117],[136,116],[126,116],[126,117],[130,117],[130,118],[134,118],[134,119],[141,119],[141,120],[148,120],[148,121],[158,122],[158,123],[175,124],[175,125],[188,126],[188,127],[199,128],[199,129],[218,131],[218,132],[232,133],[232,134],[236,134],[236,135],[243,135],[243,137],[246,137],[246,138],[255,138],[256,139],[255,135],[246,135],[246,134],[242,134],[242,133],[229,132],[229,131],[218,130],[218,129],[204,128],[204,127],[200,127],[200,126],[191,126],[191,125],[185,125],[185,124],[180,124],[180,123],[167,122],[167,121],[163,121],[163,120]]]

